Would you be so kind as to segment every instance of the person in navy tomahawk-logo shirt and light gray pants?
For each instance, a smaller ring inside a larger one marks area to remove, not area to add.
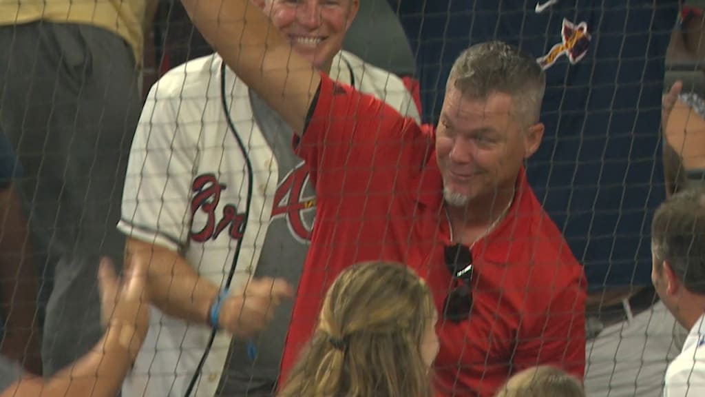
[[[417,55],[424,121],[438,119],[443,82],[467,45],[503,40],[544,69],[546,134],[527,178],[587,276],[585,389],[661,397],[680,327],[650,278],[646,225],[666,190],[654,158],[658,109],[672,36],[703,59],[702,14],[692,12],[703,1],[388,2]]]

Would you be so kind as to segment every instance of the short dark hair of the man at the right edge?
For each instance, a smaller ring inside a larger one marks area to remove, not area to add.
[[[667,261],[685,289],[705,295],[705,187],[687,187],[658,207],[651,250],[658,271]]]

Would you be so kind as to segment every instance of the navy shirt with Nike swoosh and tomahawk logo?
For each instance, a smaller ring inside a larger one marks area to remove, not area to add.
[[[663,201],[661,93],[678,0],[389,0],[417,54],[424,119],[453,61],[503,40],[546,71],[534,192],[591,290],[649,285],[651,213]],[[635,268],[636,266],[636,268]]]

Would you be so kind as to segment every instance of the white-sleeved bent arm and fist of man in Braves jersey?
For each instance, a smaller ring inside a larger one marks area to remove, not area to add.
[[[154,306],[169,316],[207,324],[220,287],[180,254],[190,238],[198,143],[184,130],[190,120],[177,112],[182,85],[177,80],[162,79],[147,97],[130,148],[118,229],[127,236],[128,255],[149,265],[146,288]],[[245,293],[257,299],[244,302]],[[268,324],[276,302],[291,295],[283,280],[251,280],[247,292],[233,291],[223,302],[219,325],[250,336]]]

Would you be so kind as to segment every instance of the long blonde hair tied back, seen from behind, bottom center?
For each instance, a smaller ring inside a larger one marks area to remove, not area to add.
[[[400,263],[358,263],[331,285],[319,324],[284,384],[287,397],[431,397],[420,347],[436,308]]]

